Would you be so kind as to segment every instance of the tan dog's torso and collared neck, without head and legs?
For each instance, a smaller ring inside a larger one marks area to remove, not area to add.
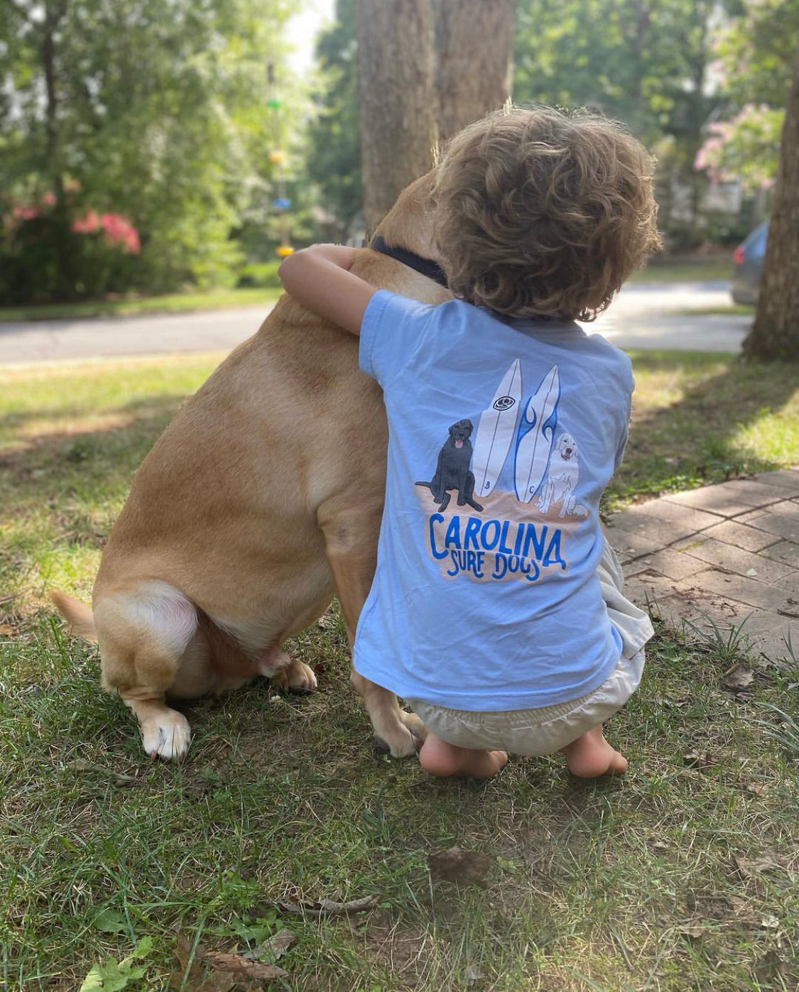
[[[364,250],[353,271],[431,302],[444,295],[374,252]],[[382,498],[386,438],[380,390],[357,368],[357,339],[282,297],[140,466],[95,602],[109,586],[158,575],[210,616],[272,614],[277,627],[296,627],[332,594],[320,509]]]

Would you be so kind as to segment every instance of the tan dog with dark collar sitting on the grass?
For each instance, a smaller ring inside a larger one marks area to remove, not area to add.
[[[435,261],[432,184],[431,173],[408,186],[376,234]],[[424,303],[450,297],[368,249],[353,271]],[[161,435],[111,531],[92,607],[52,594],[74,631],[97,641],[103,687],[136,713],[148,755],[180,759],[189,748],[189,723],[167,699],[256,675],[313,688],[314,673],[281,646],[333,593],[351,646],[374,573],[386,444],[357,339],[286,296]],[[351,678],[391,754],[413,753],[419,718]]]

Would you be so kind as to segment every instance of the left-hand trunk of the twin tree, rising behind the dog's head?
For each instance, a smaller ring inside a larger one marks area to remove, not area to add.
[[[363,215],[373,230],[401,189],[433,165],[429,0],[356,0]]]

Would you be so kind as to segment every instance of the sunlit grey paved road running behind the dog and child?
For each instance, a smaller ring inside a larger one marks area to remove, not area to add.
[[[737,351],[750,317],[680,315],[727,307],[726,283],[630,286],[590,330],[621,348]],[[191,351],[229,351],[253,334],[271,305],[168,316],[0,322],[0,365]]]

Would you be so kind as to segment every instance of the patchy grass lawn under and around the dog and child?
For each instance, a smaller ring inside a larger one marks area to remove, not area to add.
[[[609,508],[796,460],[795,373],[633,358]],[[173,969],[180,988],[178,932],[240,952],[288,928],[270,988],[793,992],[795,660],[756,668],[736,695],[734,651],[660,629],[609,727],[623,781],[579,783],[556,756],[439,782],[371,746],[333,608],[289,648],[318,692],[261,682],[200,700],[184,765],[144,759],[45,590],[88,597],[136,465],[214,364],[0,370],[0,986],[67,992],[96,964],[94,988],[166,990]],[[482,886],[431,878],[429,853],[453,845],[491,856]],[[350,916],[279,906],[367,896]],[[183,987],[229,985],[190,970]]]

